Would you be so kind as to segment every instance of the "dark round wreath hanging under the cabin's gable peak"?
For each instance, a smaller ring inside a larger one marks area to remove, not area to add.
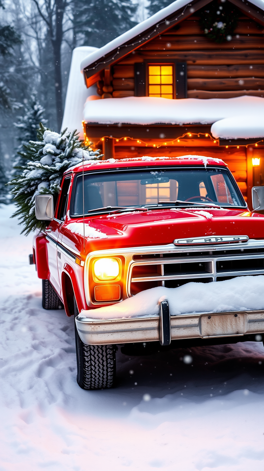
[[[214,0],[201,10],[200,27],[209,39],[218,44],[231,41],[239,14],[229,1]]]

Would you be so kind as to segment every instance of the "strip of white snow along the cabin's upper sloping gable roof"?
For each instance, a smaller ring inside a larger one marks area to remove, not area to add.
[[[244,2],[244,0],[242,0]],[[257,8],[261,9],[264,11],[264,0],[251,0],[250,2],[247,2],[247,5],[253,4]],[[108,42],[105,44],[102,48],[96,50],[92,54],[90,54],[88,57],[85,57],[80,64],[81,71],[88,67],[89,65],[93,64],[94,62],[100,60],[103,58],[106,54],[111,53],[114,49],[119,48],[122,46],[122,44],[133,40],[136,38],[139,34],[142,34],[144,31],[148,30],[149,28],[152,28],[155,26],[157,23],[160,24],[161,21],[165,20],[168,16],[172,15],[174,12],[179,10],[180,8],[190,8],[190,13],[192,13],[192,4],[190,3],[189,0],[176,0],[168,7],[162,8],[160,11],[155,13],[154,15],[150,16],[146,20],[142,21],[141,23],[137,24],[130,30],[124,32],[117,38],[113,39],[112,41]]]

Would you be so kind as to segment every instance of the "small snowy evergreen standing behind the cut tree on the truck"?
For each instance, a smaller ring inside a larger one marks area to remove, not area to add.
[[[14,126],[16,126],[18,130],[16,140],[19,143],[16,149],[14,167],[20,167],[27,163],[24,156],[22,157],[21,155],[23,146],[29,141],[36,140],[40,122],[44,125],[47,124],[47,120],[44,119],[44,113],[45,109],[40,105],[40,102],[37,99],[37,92],[34,90],[30,99],[26,101],[24,105],[24,115],[18,116],[17,122],[14,122]],[[19,172],[18,169],[17,171]],[[14,173],[17,174],[17,171]]]

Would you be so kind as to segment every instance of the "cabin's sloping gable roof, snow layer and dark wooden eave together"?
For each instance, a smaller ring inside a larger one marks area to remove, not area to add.
[[[168,7],[162,8],[155,15],[137,24],[127,32],[105,44],[81,61],[81,71],[86,78],[87,86],[92,85],[96,80],[89,78],[99,73],[100,70],[119,61],[131,51],[141,47],[144,43],[151,41],[162,32],[168,30],[177,23],[180,23],[195,11],[204,7],[212,0],[176,0]],[[264,24],[264,0],[229,0],[238,8],[243,10],[248,16],[257,22]],[[88,80],[87,80],[88,79]]]

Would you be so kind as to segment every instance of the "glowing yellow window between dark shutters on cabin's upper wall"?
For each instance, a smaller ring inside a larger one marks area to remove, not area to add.
[[[149,97],[173,98],[173,66],[149,65]]]

